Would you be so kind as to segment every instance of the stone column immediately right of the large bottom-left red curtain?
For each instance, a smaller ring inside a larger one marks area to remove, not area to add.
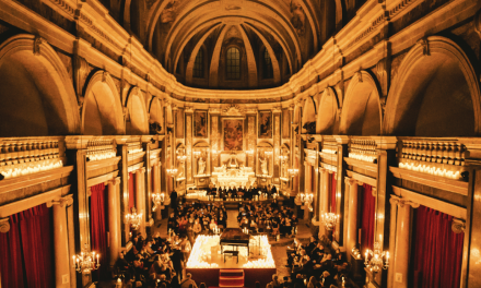
[[[47,203],[54,206],[54,259],[55,259],[55,286],[70,287],[70,259],[67,227],[66,205],[73,203],[71,195]]]

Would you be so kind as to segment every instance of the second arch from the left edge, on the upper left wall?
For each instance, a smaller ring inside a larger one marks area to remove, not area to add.
[[[84,135],[124,134],[124,109],[120,96],[110,75],[97,71],[85,87],[82,109],[82,133]]]

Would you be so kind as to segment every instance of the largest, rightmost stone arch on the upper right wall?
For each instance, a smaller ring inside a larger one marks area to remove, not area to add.
[[[453,40],[432,36],[402,60],[386,104],[385,134],[415,136],[479,135],[477,73]]]

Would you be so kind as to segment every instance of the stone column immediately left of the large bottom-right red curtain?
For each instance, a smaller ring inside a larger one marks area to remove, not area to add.
[[[411,240],[411,206],[419,207],[419,204],[410,201],[400,200],[398,203],[398,219],[396,225],[396,249],[394,265],[396,278],[394,281],[395,288],[408,288],[408,272],[409,272],[409,256],[410,256],[410,240]]]

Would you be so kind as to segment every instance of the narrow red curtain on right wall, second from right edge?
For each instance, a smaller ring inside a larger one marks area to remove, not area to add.
[[[359,187],[359,200],[361,200],[361,253],[366,249],[374,249],[374,223],[376,212],[376,197],[373,196],[373,187],[363,184]]]

